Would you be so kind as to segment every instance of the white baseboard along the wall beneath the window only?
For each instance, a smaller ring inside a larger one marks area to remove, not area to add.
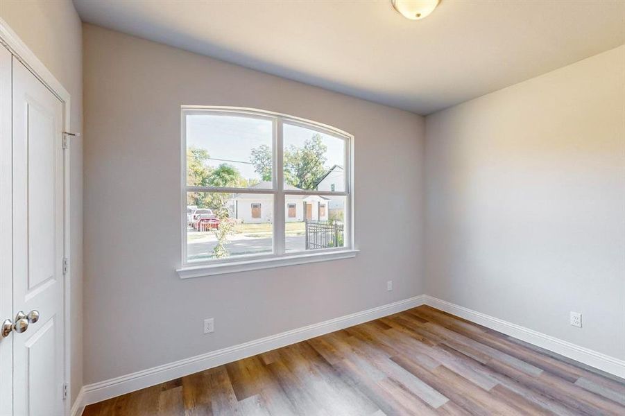
[[[410,297],[406,300],[400,300],[392,304],[378,306],[377,308],[368,309],[350,315],[341,316],[318,324],[311,324],[307,327],[301,327],[278,333],[273,336],[260,338],[248,343],[234,345],[218,349],[207,354],[201,354],[184,360],[175,361],[158,367],[148,368],[125,376],[116,377],[85,385],[81,390],[76,403],[72,406],[71,416],[80,416],[85,406],[119,395],[133,392],[142,388],[150,387],[159,383],[164,383],[172,379],[193,374],[195,372],[207,370],[232,361],[240,360],[268,352],[272,349],[285,347],[300,341],[314,338],[340,329],[353,327],[354,325],[382,318],[384,316],[393,315],[393,313],[405,311],[406,309],[415,308],[423,304],[423,296]],[[80,401],[78,401],[80,399]],[[80,410],[80,411],[78,411]]]

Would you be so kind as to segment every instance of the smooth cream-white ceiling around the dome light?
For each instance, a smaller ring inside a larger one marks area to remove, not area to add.
[[[83,21],[418,114],[625,43],[625,1],[74,0]]]

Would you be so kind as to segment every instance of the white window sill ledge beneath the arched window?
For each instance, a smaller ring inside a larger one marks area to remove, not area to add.
[[[201,266],[187,266],[176,270],[180,279],[223,275],[225,273],[247,272],[250,270],[262,270],[282,266],[294,266],[296,264],[316,263],[317,261],[330,261],[351,259],[356,257],[360,250],[336,250],[323,253],[293,254],[269,259],[255,259],[232,261],[219,264],[203,264]]]

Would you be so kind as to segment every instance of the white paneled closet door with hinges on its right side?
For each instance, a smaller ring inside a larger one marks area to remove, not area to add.
[[[40,315],[26,331],[11,335],[13,415],[60,416],[64,413],[63,106],[15,58],[12,92],[13,320],[19,311]]]

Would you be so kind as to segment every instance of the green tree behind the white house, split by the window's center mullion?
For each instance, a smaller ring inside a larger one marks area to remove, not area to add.
[[[325,152],[327,146],[321,135],[315,134],[304,142],[304,146],[289,146],[284,149],[284,181],[300,189],[314,189],[317,181],[327,169]],[[263,180],[271,180],[271,148],[266,145],[252,149],[250,162]]]

